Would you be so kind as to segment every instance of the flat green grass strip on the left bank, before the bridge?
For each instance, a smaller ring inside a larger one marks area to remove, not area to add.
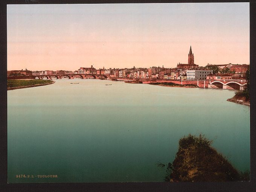
[[[7,80],[7,88],[31,86],[31,85],[42,85],[42,84],[51,83],[51,82],[53,81],[40,80],[40,79],[32,79],[32,80],[9,79]]]

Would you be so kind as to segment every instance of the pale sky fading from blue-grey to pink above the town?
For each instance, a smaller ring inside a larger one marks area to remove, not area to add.
[[[7,5],[7,69],[249,64],[249,3]]]

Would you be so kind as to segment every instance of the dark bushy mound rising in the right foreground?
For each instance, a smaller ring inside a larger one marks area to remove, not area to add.
[[[181,138],[174,162],[167,165],[165,181],[214,182],[250,179],[249,172],[239,173],[211,144],[212,141],[203,135]],[[158,163],[158,166],[166,165]]]

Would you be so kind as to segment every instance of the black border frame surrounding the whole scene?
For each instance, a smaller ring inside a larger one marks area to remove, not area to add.
[[[202,2],[248,2],[223,0],[38,0],[39,4],[65,3],[202,3]],[[0,2],[0,191],[256,191],[256,0],[250,1],[250,150],[251,181],[221,183],[7,183],[7,33],[6,10],[8,4],[25,4],[25,0],[2,0]]]

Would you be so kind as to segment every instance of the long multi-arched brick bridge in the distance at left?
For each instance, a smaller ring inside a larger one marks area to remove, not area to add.
[[[39,76],[18,76],[18,77],[8,77],[8,79],[62,79],[63,77],[68,77],[69,79],[74,79],[75,77],[81,77],[81,79],[110,79],[110,75],[106,74],[54,74],[54,75],[39,75]]]

